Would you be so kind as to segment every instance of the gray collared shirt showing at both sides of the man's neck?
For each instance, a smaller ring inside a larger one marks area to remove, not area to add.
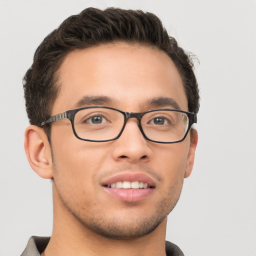
[[[20,256],[40,256],[40,253],[45,250],[49,240],[50,237],[31,236]],[[184,256],[180,248],[169,241],[165,242],[165,251],[167,256]]]

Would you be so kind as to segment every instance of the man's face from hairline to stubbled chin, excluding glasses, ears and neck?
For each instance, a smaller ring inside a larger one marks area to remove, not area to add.
[[[187,110],[176,67],[152,47],[116,43],[73,51],[60,67],[59,83],[52,115],[87,105],[130,112],[173,108],[168,101],[150,103],[159,97],[175,100]],[[118,139],[108,142],[80,140],[70,121],[61,120],[52,123],[51,143],[58,210],[112,238],[145,235],[166,218],[191,171],[194,152],[189,134],[173,144],[146,140],[135,118],[128,119]],[[149,188],[108,187],[120,181],[142,181]]]

